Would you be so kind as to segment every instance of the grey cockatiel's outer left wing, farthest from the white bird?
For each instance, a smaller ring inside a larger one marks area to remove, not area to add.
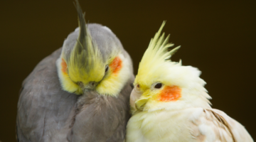
[[[60,52],[44,58],[23,81],[17,106],[18,141],[67,141],[78,96],[60,87],[55,65]]]

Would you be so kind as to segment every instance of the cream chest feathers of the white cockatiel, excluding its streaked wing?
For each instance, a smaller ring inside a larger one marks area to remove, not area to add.
[[[202,111],[202,109],[201,109]],[[142,111],[132,116],[127,124],[130,141],[189,141],[187,120],[191,109],[183,111]],[[129,142],[129,141],[127,141]]]

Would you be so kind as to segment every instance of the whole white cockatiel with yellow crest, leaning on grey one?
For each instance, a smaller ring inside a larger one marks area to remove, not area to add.
[[[169,50],[169,35],[160,36],[164,24],[139,63],[126,142],[253,141],[238,121],[210,107],[206,82],[197,68],[171,62],[179,47]]]

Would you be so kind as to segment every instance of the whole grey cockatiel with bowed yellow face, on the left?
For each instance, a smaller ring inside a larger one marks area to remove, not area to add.
[[[132,60],[109,28],[86,25],[78,1],[76,9],[79,28],[23,81],[18,141],[124,141]]]

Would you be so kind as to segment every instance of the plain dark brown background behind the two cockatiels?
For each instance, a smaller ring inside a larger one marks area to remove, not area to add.
[[[109,27],[132,56],[134,73],[149,40],[165,33],[181,45],[172,58],[198,67],[213,108],[256,139],[256,1],[82,1],[85,19]],[[73,1],[0,2],[0,141],[15,141],[21,82],[78,26]]]

